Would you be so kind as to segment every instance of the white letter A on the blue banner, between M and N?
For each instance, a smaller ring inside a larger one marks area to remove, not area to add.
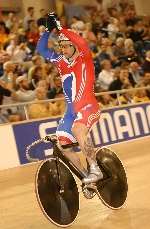
[[[114,116],[118,139],[123,139],[124,138],[123,133],[125,132],[129,134],[129,137],[133,137],[134,133],[133,133],[133,128],[132,128],[132,124],[131,124],[131,120],[130,120],[128,111],[127,110],[117,110],[114,112],[113,116]],[[121,124],[121,120],[120,120],[121,116],[125,120],[124,125]]]

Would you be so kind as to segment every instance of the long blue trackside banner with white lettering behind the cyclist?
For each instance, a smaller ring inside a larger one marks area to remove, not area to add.
[[[55,134],[59,118],[13,125],[20,163],[28,163],[26,147],[33,141]],[[111,145],[150,135],[150,103],[115,107],[102,111],[101,118],[90,131],[95,147]],[[31,154],[44,159],[52,153],[50,143],[35,146]]]

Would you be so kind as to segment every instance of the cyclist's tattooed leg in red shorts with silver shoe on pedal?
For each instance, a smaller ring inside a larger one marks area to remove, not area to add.
[[[72,127],[73,135],[76,137],[81,150],[85,154],[90,165],[90,173],[89,176],[84,179],[84,183],[96,182],[103,178],[103,174],[96,162],[94,146],[88,135],[89,129],[99,120],[99,117],[100,111],[98,106],[87,106],[87,109],[84,107],[78,112],[77,118]]]

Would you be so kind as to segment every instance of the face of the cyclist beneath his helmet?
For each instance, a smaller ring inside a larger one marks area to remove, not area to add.
[[[71,58],[74,51],[75,47],[72,45],[70,41],[61,41],[59,44],[59,48],[62,52],[62,54],[68,59]]]

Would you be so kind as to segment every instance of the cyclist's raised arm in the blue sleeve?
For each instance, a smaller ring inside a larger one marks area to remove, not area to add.
[[[45,31],[43,35],[40,37],[37,43],[37,51],[43,56],[45,59],[51,62],[57,62],[57,58],[60,56],[57,54],[54,49],[48,48],[48,39],[49,39],[49,32]]]

